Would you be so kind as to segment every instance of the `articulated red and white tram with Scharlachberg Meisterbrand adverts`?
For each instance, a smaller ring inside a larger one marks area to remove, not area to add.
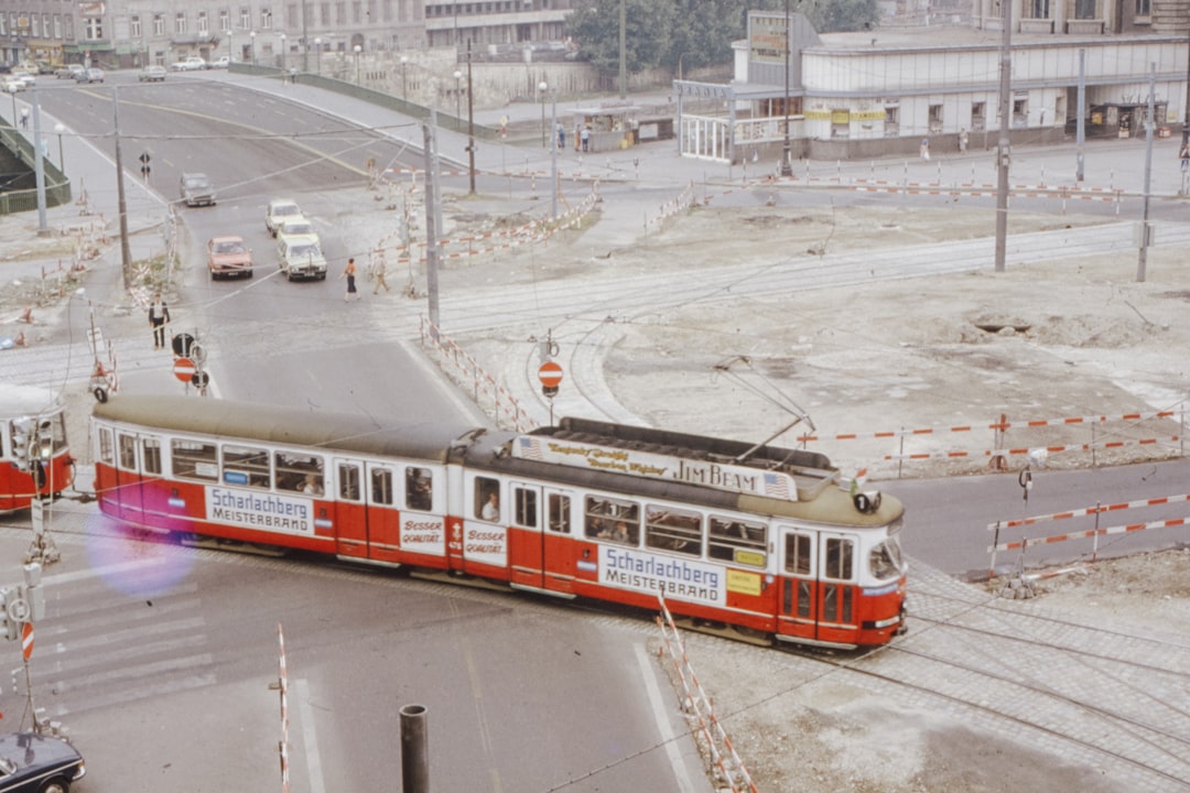
[[[826,457],[564,418],[528,434],[214,399],[93,413],[132,524],[471,575],[834,647],[903,628],[903,508]]]

